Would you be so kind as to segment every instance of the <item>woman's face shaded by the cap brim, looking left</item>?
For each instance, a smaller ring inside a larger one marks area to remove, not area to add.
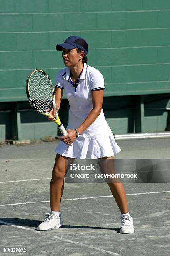
[[[81,59],[81,53],[77,53],[76,48],[72,50],[63,49],[62,50],[62,59],[65,66],[71,67],[75,66]]]

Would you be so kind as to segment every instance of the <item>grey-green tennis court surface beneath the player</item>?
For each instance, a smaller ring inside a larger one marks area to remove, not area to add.
[[[170,139],[117,141],[115,158],[170,159]],[[169,255],[170,184],[125,183],[135,233],[120,233],[120,211],[105,183],[66,183],[64,227],[37,225],[50,212],[56,142],[0,148],[0,255]],[[25,248],[23,252],[5,248]]]

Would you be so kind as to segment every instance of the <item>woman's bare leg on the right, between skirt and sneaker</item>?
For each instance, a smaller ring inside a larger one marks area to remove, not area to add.
[[[115,173],[113,156],[111,156],[109,158],[104,157],[102,159],[106,159],[106,162],[103,160],[100,161],[100,159],[99,159],[100,168],[102,168],[101,171],[104,171],[104,173],[108,173],[108,170],[111,170],[113,168],[113,171],[111,171],[111,172],[109,171],[109,173]],[[120,209],[120,212],[122,214],[128,213],[128,203],[127,203],[125,189],[123,187],[123,184],[122,184],[122,182],[115,182],[115,181],[116,181],[116,179],[111,179],[110,182],[107,182],[107,184],[110,187],[112,195],[115,198],[117,206]]]

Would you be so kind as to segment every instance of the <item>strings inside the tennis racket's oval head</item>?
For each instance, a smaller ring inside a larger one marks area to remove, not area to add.
[[[53,91],[49,79],[40,71],[30,77],[29,91],[37,110],[47,112],[53,106]]]

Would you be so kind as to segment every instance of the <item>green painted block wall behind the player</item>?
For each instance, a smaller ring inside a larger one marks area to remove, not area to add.
[[[104,104],[112,109],[108,122],[115,133],[138,131],[134,128],[139,125],[134,125],[135,113],[141,114],[142,104],[144,108],[148,104],[145,97],[143,103],[140,99],[140,105],[136,104],[138,95],[149,95],[154,106],[160,105],[159,100],[163,108],[169,106],[169,0],[0,0],[0,6],[0,102],[27,101],[25,80],[32,69],[44,69],[54,82],[56,72],[64,67],[55,45],[75,34],[87,40],[88,64],[105,78],[108,102]],[[117,106],[123,102],[123,117],[121,106],[113,111],[113,102]],[[0,110],[3,106],[1,103]],[[9,116],[11,106],[6,108]],[[103,108],[107,116],[108,107]],[[156,113],[156,126],[151,121],[155,113],[149,113],[149,128],[148,120],[145,125],[148,114],[140,116],[141,131],[166,129],[168,112]],[[33,121],[29,118],[28,127]],[[11,121],[0,123],[0,134],[4,134],[7,122]],[[21,123],[21,130],[24,125]],[[27,133],[23,134],[26,138]]]

